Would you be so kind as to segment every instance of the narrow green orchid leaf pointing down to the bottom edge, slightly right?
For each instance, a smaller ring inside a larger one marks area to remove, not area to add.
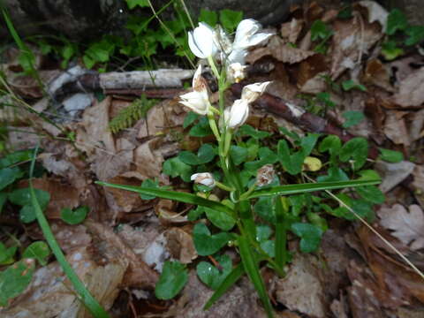
[[[258,263],[254,259],[254,254],[252,253],[251,246],[247,238],[244,236],[239,236],[237,239],[239,242],[239,253],[241,256],[241,261],[243,262],[243,266],[246,270],[247,276],[249,276],[251,282],[254,284],[254,288],[256,292],[259,294],[259,298],[265,308],[265,311],[269,318],[272,318],[273,309],[271,303],[269,301],[268,292],[265,288],[265,284],[263,284],[263,280],[261,277],[261,273],[259,271]]]

